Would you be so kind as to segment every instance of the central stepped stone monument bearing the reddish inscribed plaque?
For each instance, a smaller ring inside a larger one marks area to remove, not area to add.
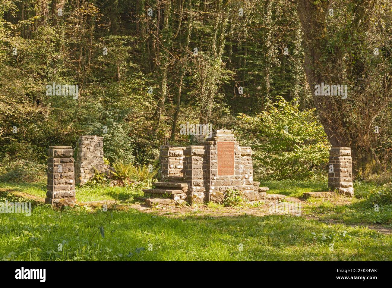
[[[266,199],[268,188],[253,181],[252,150],[241,147],[230,130],[216,130],[200,145],[161,146],[160,161],[162,182],[143,190],[147,205],[220,203],[230,188],[249,201]]]

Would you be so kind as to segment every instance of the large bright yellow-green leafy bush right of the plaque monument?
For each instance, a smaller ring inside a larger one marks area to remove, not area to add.
[[[315,109],[300,111],[295,101],[277,98],[260,114],[239,114],[236,132],[242,145],[252,147],[255,173],[262,179],[309,178],[328,163],[327,136]]]

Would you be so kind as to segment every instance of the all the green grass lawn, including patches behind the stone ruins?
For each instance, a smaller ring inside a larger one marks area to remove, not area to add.
[[[2,183],[0,190],[45,197],[44,184]],[[326,183],[305,181],[264,185],[270,187],[270,193],[291,197],[326,187]],[[355,193],[358,190],[361,195],[374,188],[373,184],[357,183]],[[76,190],[76,197],[78,201],[129,202],[134,195],[124,189],[83,187]],[[13,199],[10,194],[2,194],[0,201],[5,197]],[[341,205],[334,200],[309,199],[311,205],[303,205],[301,217],[211,217],[198,212],[162,215],[132,208],[102,212],[78,207],[59,211],[49,205],[35,205],[30,217],[0,214],[0,260],[392,260],[392,235],[365,225],[391,226],[392,205],[380,206],[375,212],[365,198]],[[334,222],[309,219],[312,217]],[[104,237],[99,229],[101,223]],[[62,250],[58,250],[60,246]]]

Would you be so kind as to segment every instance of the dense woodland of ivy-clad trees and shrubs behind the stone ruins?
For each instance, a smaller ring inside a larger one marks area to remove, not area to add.
[[[232,129],[260,178],[326,173],[331,144],[356,178],[389,174],[391,19],[388,0],[0,0],[0,174],[33,178],[80,135],[157,165],[160,145],[192,143],[187,121]],[[46,96],[53,82],[79,98]],[[348,98],[316,98],[321,82]]]

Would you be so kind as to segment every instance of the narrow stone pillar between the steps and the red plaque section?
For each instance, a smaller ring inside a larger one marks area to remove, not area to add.
[[[190,145],[184,150],[184,175],[190,204],[208,202],[208,145]]]

